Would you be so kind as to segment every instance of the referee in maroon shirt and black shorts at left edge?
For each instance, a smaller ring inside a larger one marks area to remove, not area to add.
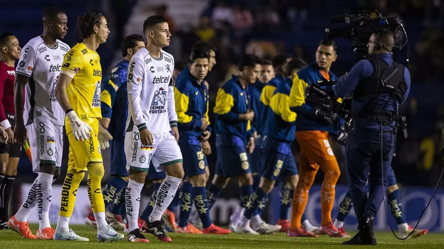
[[[15,142],[14,80],[15,61],[20,58],[20,45],[12,33],[0,35],[0,125],[7,142],[0,144],[0,229],[8,228],[8,206],[12,185],[17,175],[21,145]],[[22,109],[23,110],[23,109]]]

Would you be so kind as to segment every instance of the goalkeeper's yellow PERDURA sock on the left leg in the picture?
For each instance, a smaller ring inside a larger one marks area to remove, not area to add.
[[[85,172],[76,172],[70,170],[66,174],[65,181],[62,186],[62,198],[60,200],[59,216],[71,217],[74,211],[75,195],[78,186],[85,176]]]

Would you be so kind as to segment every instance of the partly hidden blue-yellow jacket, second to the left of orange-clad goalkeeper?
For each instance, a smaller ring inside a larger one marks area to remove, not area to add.
[[[259,135],[263,134],[263,129],[265,122],[267,121],[267,113],[268,113],[268,107],[270,106],[270,99],[273,95],[274,91],[276,90],[277,86],[279,86],[282,81],[284,81],[284,77],[280,74],[276,74],[276,76],[271,79],[269,82],[265,84],[265,86],[262,89],[262,93],[260,93],[260,102],[264,105],[262,108],[262,112],[255,113],[255,119],[257,118],[257,123],[260,124],[259,126],[256,126],[257,132]]]

